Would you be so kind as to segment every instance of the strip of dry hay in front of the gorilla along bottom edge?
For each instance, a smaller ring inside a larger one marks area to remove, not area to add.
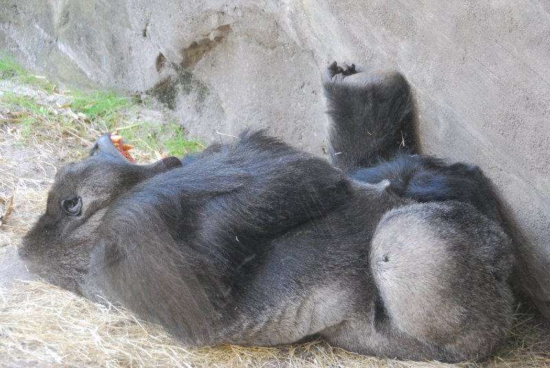
[[[32,281],[0,289],[0,365],[104,367],[550,367],[549,336],[518,315],[511,345],[488,362],[377,359],[324,340],[282,347],[187,347],[121,307]]]

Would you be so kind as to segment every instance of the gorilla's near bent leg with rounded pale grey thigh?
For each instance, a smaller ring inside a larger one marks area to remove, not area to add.
[[[322,334],[344,349],[390,358],[482,358],[511,323],[513,261],[507,235],[472,206],[391,210],[369,252],[378,290],[372,317]]]

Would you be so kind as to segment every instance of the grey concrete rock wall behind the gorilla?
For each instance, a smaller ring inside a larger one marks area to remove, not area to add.
[[[496,184],[525,235],[522,285],[550,318],[547,0],[0,0],[0,51],[68,85],[153,94],[205,142],[267,128],[318,155],[320,69],[397,69],[424,151]]]

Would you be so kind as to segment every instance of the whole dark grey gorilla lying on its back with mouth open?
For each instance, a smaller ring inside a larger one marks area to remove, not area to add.
[[[323,81],[332,164],[245,132],[140,166],[102,136],[58,173],[21,257],[192,345],[320,334],[390,358],[487,356],[514,261],[491,184],[417,155],[401,75],[333,63]]]

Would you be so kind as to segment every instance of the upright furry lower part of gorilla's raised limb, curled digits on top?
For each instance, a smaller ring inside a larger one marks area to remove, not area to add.
[[[335,166],[350,172],[399,151],[417,153],[415,112],[401,74],[335,62],[325,68],[323,87],[332,120],[329,157]]]

